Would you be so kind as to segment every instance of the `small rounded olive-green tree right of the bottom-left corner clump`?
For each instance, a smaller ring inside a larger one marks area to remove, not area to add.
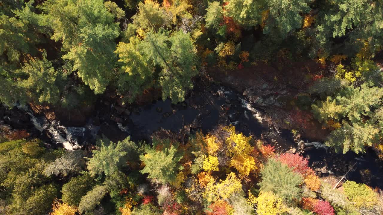
[[[69,205],[78,206],[81,198],[92,189],[93,184],[94,181],[88,173],[71,178],[62,186],[62,201]]]

